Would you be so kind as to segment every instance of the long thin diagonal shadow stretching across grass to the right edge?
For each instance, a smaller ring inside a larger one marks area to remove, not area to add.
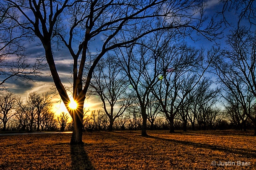
[[[254,149],[238,149],[238,148],[224,148],[224,147],[220,147],[218,145],[210,145],[210,144],[201,144],[201,143],[195,143],[195,142],[189,142],[189,141],[179,141],[179,140],[174,140],[174,139],[165,139],[165,138],[159,138],[156,136],[143,136],[145,138],[153,138],[153,139],[157,139],[157,140],[162,140],[162,141],[169,141],[169,142],[175,142],[175,143],[179,143],[179,144],[184,144],[184,145],[190,145],[193,147],[197,147],[197,148],[204,148],[204,149],[211,149],[211,150],[219,150],[221,152],[228,152],[228,153],[235,153],[238,155],[244,155],[247,158],[256,158],[256,150]]]

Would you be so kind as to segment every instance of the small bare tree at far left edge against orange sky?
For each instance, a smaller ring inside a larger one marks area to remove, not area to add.
[[[3,122],[3,131],[6,130],[6,124],[10,118],[15,116],[14,108],[17,100],[11,92],[0,95],[0,120]]]

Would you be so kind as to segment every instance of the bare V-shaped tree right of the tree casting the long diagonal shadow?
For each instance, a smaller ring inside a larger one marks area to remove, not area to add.
[[[166,44],[161,49],[157,60],[162,73],[160,81],[153,86],[152,93],[159,101],[161,111],[170,124],[170,133],[173,133],[174,118],[180,107],[185,107],[184,101],[207,70],[209,64],[205,63],[205,59],[210,62],[210,56],[214,55],[214,52],[208,52],[205,56],[203,50],[186,44]]]

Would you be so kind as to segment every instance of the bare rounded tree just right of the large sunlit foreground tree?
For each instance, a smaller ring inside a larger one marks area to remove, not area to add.
[[[121,72],[113,56],[102,58],[94,69],[93,77],[89,93],[100,97],[109,119],[108,130],[112,131],[115,119],[121,116],[133,102],[133,97],[127,90],[128,78]]]

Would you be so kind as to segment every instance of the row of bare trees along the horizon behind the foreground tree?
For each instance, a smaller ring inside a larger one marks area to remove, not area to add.
[[[255,129],[256,101],[250,89],[255,35],[246,28],[234,30],[229,48],[207,52],[173,44],[172,38],[156,34],[99,61],[87,97],[98,96],[102,110],[83,109],[83,130]],[[72,130],[68,115],[54,118],[50,108],[48,93],[30,93],[25,101],[6,93],[1,96],[2,129],[13,117],[18,130],[54,130],[57,124],[60,130]]]

